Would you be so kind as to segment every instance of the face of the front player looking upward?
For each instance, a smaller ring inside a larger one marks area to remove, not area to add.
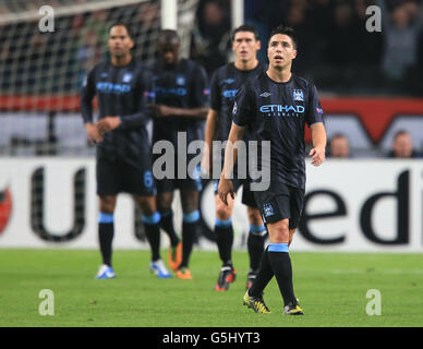
[[[297,57],[292,39],[285,34],[276,34],[270,37],[267,48],[267,58],[269,65],[281,70],[292,64],[292,60]]]

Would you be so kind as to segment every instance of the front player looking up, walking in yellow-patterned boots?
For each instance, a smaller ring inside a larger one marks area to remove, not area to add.
[[[270,33],[267,56],[268,70],[249,81],[237,95],[232,112],[232,127],[225,154],[225,166],[218,193],[228,204],[233,197],[233,184],[229,179],[237,158],[231,146],[243,139],[245,128],[253,130],[258,143],[270,142],[270,161],[262,164],[269,171],[267,190],[254,192],[262,217],[269,234],[269,244],[263,255],[257,277],[244,294],[244,304],[257,313],[269,313],[263,299],[263,290],[275,276],[283,299],[283,313],[303,314],[298,304],[293,284],[289,245],[299,225],[305,190],[305,123],[311,129],[313,148],[312,165],[325,160],[326,131],[323,110],[314,85],[291,72],[297,57],[297,36],[292,28],[279,26]],[[258,164],[262,159],[257,158]]]

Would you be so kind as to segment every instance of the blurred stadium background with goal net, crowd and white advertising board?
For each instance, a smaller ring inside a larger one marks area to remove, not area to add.
[[[108,56],[108,26],[122,20],[132,26],[137,59],[154,60],[159,29],[176,26],[182,55],[209,75],[231,59],[233,27],[256,25],[266,47],[273,27],[293,26],[300,39],[293,70],[316,84],[329,139],[345,134],[351,151],[319,169],[309,166],[294,248],[422,250],[422,159],[386,159],[399,130],[423,151],[421,1],[178,0],[177,11],[165,0],[117,3],[0,0],[0,246],[97,246],[95,149],[78,94],[87,70]],[[51,33],[38,26],[45,4],[55,10]],[[370,33],[366,9],[374,4],[383,10],[382,32]],[[266,60],[264,49],[259,59]],[[198,246],[213,249],[210,203],[206,185]],[[178,204],[174,210],[179,219]],[[235,246],[244,249],[244,208],[238,204],[234,215]],[[138,217],[123,195],[117,248],[146,246]]]

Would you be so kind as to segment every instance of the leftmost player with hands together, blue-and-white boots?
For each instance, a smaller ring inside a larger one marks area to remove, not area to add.
[[[114,278],[112,268],[113,212],[117,195],[126,192],[140,206],[152,248],[150,268],[170,277],[154,244],[159,234],[152,151],[146,129],[152,119],[148,105],[154,97],[152,74],[131,55],[134,41],[124,23],[109,27],[110,60],[94,67],[84,83],[81,112],[88,140],[97,145],[96,179],[99,197],[98,239],[102,257],[96,278]],[[94,121],[93,98],[99,116]]]

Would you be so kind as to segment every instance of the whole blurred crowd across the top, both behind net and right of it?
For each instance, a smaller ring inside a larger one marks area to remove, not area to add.
[[[41,2],[0,0],[0,17],[7,16],[8,11],[16,7],[25,4],[24,10],[34,10]],[[51,3],[59,7],[84,2],[87,0],[53,0]],[[245,0],[244,10],[245,22],[258,28],[264,44],[270,29],[281,23],[295,28],[299,55],[293,69],[313,81],[321,91],[354,95],[422,96],[422,2]],[[230,0],[198,0],[191,32],[190,56],[202,63],[209,75],[231,59],[231,3]],[[372,14],[366,13],[366,9],[371,5],[377,5],[382,11],[382,32],[367,31],[366,23]],[[105,28],[111,20],[119,20],[113,17],[114,12],[102,10],[60,17],[57,21],[61,32],[49,37],[34,31],[34,23],[7,26],[0,23],[0,39],[7,43],[0,47],[0,70],[8,74],[4,70],[10,69],[12,59],[14,62],[25,61],[28,72],[34,71],[33,68],[51,69],[55,65],[49,60],[55,57],[69,57],[64,65],[80,64],[82,71],[85,70],[101,57]],[[121,14],[120,19],[133,23],[135,36],[143,33],[144,41],[142,47],[137,47],[140,59],[152,59],[155,45],[145,38],[154,39],[155,28],[148,33],[148,26],[152,23],[159,25],[159,2],[148,1],[128,7],[128,11],[122,10]],[[28,49],[23,49],[24,46]],[[266,45],[263,45],[258,58],[266,61]],[[41,59],[44,63],[40,63]],[[72,79],[73,71],[69,71]],[[72,86],[73,83],[65,87],[69,89]],[[0,83],[1,87],[4,89],[4,79]]]

